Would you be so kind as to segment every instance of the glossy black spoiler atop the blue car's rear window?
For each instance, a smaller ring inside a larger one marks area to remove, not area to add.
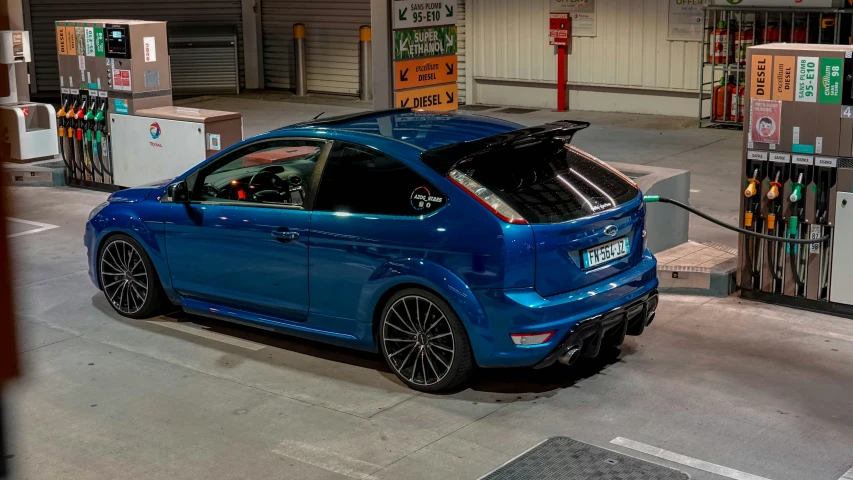
[[[479,140],[454,143],[427,150],[421,154],[421,161],[439,174],[447,175],[460,162],[475,155],[509,148],[526,147],[550,140],[560,140],[568,143],[572,141],[575,133],[587,127],[589,127],[589,122],[560,120],[539,125],[538,127],[522,128],[521,130],[513,130]]]

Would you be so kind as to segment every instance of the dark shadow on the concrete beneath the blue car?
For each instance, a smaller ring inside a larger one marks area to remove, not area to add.
[[[227,352],[223,353],[227,354],[228,362],[231,365],[239,364],[246,358],[265,361],[270,364],[275,363],[268,360],[266,355],[256,355],[242,349],[233,349],[228,345],[211,342],[203,337],[197,337],[176,330],[157,328],[156,319],[152,319],[152,322],[142,322],[121,317],[107,304],[102,294],[96,294],[92,298],[92,304],[110,318],[127,325],[227,350]],[[393,382],[396,386],[404,386],[378,353],[354,350],[283,333],[253,328],[238,323],[193,315],[181,310],[170,312],[160,318],[167,321],[192,324],[209,332],[277,348],[285,352],[298,353],[329,362],[371,369],[388,381]],[[444,392],[438,394],[438,396],[464,395],[464,392],[471,391],[495,394],[494,401],[498,403],[507,401],[506,397],[516,395],[518,396],[517,399],[510,398],[509,400],[526,401],[542,397],[547,398],[556,395],[560,390],[577,387],[585,379],[604,374],[608,367],[622,362],[623,358],[632,355],[635,351],[636,348],[629,341],[619,348],[602,348],[598,357],[581,358],[571,366],[556,363],[539,370],[533,368],[480,368],[477,369],[472,381],[459,389]],[[224,362],[220,366],[226,366]],[[310,373],[322,375],[321,372]],[[348,378],[348,381],[358,382],[358,379]],[[535,397],[530,397],[529,394],[533,394]]]

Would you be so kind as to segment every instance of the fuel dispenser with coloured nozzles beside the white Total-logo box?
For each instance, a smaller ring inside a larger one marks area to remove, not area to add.
[[[56,131],[66,178],[77,186],[112,186],[110,116],[172,105],[166,22],[70,20],[55,28]]]

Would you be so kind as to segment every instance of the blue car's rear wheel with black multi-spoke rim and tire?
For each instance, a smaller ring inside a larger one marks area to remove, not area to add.
[[[447,391],[474,373],[465,327],[437,295],[418,288],[401,290],[386,302],[379,322],[382,356],[409,388]]]

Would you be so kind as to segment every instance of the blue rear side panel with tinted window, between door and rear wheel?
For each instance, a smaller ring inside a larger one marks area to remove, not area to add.
[[[355,323],[365,288],[388,262],[442,255],[446,224],[437,216],[446,203],[438,188],[396,159],[336,143],[313,203],[309,321],[369,332],[369,325]]]

